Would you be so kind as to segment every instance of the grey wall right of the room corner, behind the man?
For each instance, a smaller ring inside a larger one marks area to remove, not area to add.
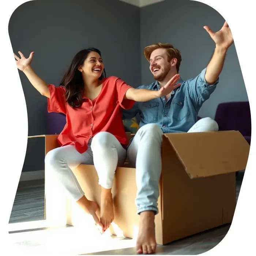
[[[224,22],[217,11],[197,1],[166,0],[141,8],[141,83],[154,82],[143,49],[157,42],[171,43],[181,51],[179,73],[183,80],[197,76],[209,63],[215,47],[203,26],[216,32]],[[214,118],[218,104],[228,101],[248,101],[234,44],[227,52],[218,87],[203,104],[199,116]]]

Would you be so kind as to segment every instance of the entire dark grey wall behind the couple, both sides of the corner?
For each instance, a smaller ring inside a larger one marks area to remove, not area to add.
[[[58,85],[76,52],[93,46],[102,51],[108,76],[119,76],[137,87],[154,81],[143,55],[145,46],[172,43],[182,54],[182,79],[193,78],[207,66],[214,50],[214,42],[203,26],[217,31],[223,23],[217,11],[189,0],[166,0],[143,8],[118,0],[37,0],[14,11],[9,34],[14,52],[20,50],[25,56],[35,52],[32,66],[46,83]],[[28,135],[46,134],[46,98],[22,72],[19,74],[27,105]],[[218,87],[199,115],[214,118],[219,103],[247,100],[232,45]],[[23,171],[42,169],[44,139],[29,139]]]

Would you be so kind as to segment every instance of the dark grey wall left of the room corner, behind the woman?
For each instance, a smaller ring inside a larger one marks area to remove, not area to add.
[[[28,57],[35,52],[32,67],[46,83],[59,85],[75,54],[95,47],[102,52],[107,76],[118,76],[137,87],[141,80],[139,22],[139,7],[117,0],[37,0],[14,11],[9,35],[15,53],[20,50]],[[22,72],[19,74],[27,105],[28,135],[47,134],[46,98]],[[43,169],[44,139],[28,139],[23,171]]]

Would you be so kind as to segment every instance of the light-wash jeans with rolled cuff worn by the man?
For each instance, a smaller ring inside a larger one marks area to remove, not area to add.
[[[216,121],[210,117],[202,118],[188,132],[218,131]],[[142,211],[154,211],[158,214],[159,178],[161,176],[162,129],[157,124],[143,125],[136,132],[127,149],[127,157],[136,167],[138,214]]]

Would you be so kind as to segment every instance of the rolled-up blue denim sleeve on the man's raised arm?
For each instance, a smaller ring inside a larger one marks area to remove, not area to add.
[[[205,80],[206,68],[193,79],[186,81],[186,85],[189,91],[189,95],[194,102],[194,106],[199,110],[210,95],[216,89],[217,84],[219,83],[219,78],[215,81],[214,84],[209,84]]]

